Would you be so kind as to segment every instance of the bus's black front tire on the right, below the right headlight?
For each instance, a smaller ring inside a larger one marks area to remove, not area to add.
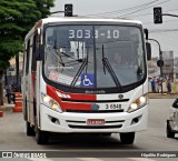
[[[120,141],[122,144],[132,144],[135,141],[135,132],[120,133]]]

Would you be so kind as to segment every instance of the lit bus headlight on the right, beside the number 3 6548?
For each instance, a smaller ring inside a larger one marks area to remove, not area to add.
[[[127,112],[134,112],[140,108],[142,108],[144,105],[147,104],[147,100],[148,100],[148,97],[147,95],[142,95],[140,98],[138,98],[137,100],[135,100],[130,107],[128,108]]]

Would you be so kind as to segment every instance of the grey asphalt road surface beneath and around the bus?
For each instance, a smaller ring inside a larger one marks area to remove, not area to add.
[[[178,135],[175,139],[166,138],[166,119],[172,101],[172,99],[150,99],[148,130],[138,132],[132,145],[121,144],[117,133],[111,137],[88,134],[52,135],[49,144],[38,145],[34,137],[26,135],[22,113],[4,111],[3,118],[0,118],[0,151],[53,151],[53,157],[61,155],[62,160],[72,158],[72,161],[115,161],[119,157],[127,157],[127,159],[122,159],[125,161],[168,160],[167,158],[135,158],[135,154],[138,152],[140,155],[155,155],[159,151],[162,153],[168,152],[169,154],[177,153],[178,157]],[[37,159],[30,158],[28,160]],[[42,160],[51,161],[58,159]]]

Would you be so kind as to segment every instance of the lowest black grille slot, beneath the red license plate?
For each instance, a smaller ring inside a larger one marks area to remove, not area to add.
[[[73,129],[117,129],[121,128],[122,125],[71,125],[69,124],[70,128]]]

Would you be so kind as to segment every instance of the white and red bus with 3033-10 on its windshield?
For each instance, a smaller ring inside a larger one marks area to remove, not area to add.
[[[120,133],[131,144],[147,129],[147,52],[141,22],[47,18],[24,40],[27,135]],[[150,50],[150,48],[149,48]],[[149,51],[148,50],[148,51]]]

